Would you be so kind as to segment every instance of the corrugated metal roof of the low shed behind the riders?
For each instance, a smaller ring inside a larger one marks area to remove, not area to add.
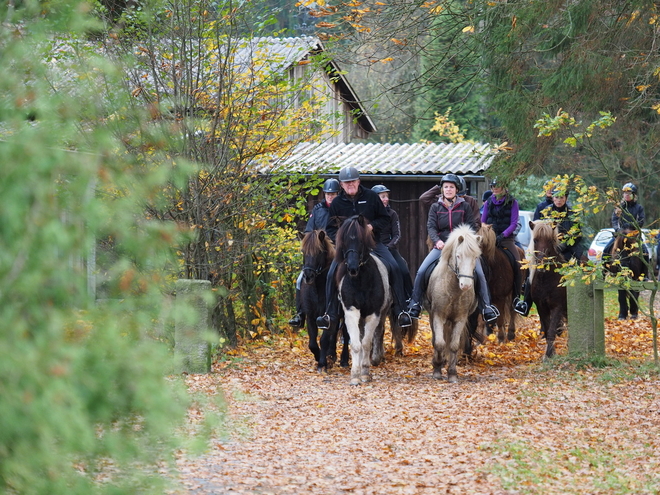
[[[259,169],[261,173],[338,172],[346,166],[362,174],[482,174],[494,155],[489,144],[303,143]]]

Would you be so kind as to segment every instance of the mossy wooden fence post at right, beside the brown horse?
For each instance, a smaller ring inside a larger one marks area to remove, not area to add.
[[[603,291],[580,280],[566,287],[568,353],[605,355]]]

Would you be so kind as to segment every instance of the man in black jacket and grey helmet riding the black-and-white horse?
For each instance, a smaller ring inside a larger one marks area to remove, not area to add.
[[[406,298],[403,290],[403,277],[392,253],[381,242],[380,238],[381,231],[392,222],[392,219],[378,194],[360,184],[360,173],[355,167],[342,168],[339,171],[338,178],[341,184],[341,192],[330,205],[330,219],[326,225],[326,233],[334,242],[340,222],[344,219],[354,215],[362,215],[369,221],[368,225],[373,231],[376,240],[374,254],[385,264],[390,274],[390,284],[394,295],[394,312],[398,315],[397,322],[401,327],[409,327],[412,325],[412,320],[404,308]],[[337,283],[335,281],[336,270],[337,262],[333,260],[328,271],[328,280],[326,283],[326,294],[328,297],[326,313],[316,319],[316,324],[321,329],[330,328],[330,325],[336,323],[338,320],[339,299],[337,297]]]

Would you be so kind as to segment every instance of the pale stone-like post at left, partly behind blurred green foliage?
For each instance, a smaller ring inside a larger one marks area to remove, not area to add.
[[[174,356],[180,372],[209,373],[211,344],[206,338],[211,312],[205,297],[211,290],[208,280],[176,281]]]

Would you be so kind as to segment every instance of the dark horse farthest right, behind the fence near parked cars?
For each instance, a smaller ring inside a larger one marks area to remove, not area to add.
[[[612,249],[608,253],[603,253],[609,257],[605,268],[611,273],[619,273],[622,269],[627,269],[633,280],[643,280],[648,274],[649,261],[645,254],[640,256],[641,242],[636,230],[624,229],[615,235]],[[625,320],[628,314],[631,319],[637,318],[638,300],[638,290],[619,289],[619,320]]]

